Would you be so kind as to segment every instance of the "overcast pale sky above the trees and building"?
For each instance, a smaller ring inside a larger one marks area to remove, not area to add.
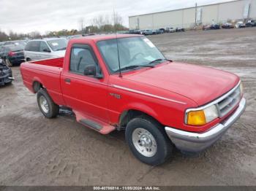
[[[150,12],[211,4],[230,0],[0,0],[0,29],[18,33],[79,28],[97,15],[112,15],[113,9],[129,26],[128,17]]]

